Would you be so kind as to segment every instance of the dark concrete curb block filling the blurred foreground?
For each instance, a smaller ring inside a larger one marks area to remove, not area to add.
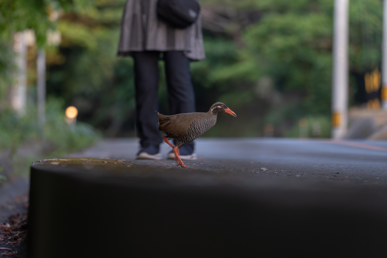
[[[30,258],[385,253],[385,187],[289,187],[229,172],[72,163],[31,167]]]

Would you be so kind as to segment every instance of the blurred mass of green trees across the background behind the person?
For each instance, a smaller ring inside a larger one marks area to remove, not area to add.
[[[333,0],[201,3],[207,59],[191,64],[197,111],[206,112],[222,101],[238,114],[236,120],[219,116],[218,125],[205,135],[298,137],[298,122],[305,118],[310,125],[319,123],[320,131],[313,136],[329,137]],[[62,43],[46,50],[48,98],[60,99],[63,109],[76,106],[78,120],[107,137],[135,136],[133,63],[116,57],[124,4],[125,0],[0,2],[2,46],[8,44],[4,35],[27,27],[35,29],[42,44],[47,28],[59,29]],[[59,12],[56,22],[47,19],[50,8]],[[382,1],[352,0],[351,106],[366,101],[363,76],[380,67],[381,35]],[[5,78],[12,53],[1,49]],[[163,62],[159,67],[160,109],[168,114]],[[32,100],[34,83],[29,81]]]

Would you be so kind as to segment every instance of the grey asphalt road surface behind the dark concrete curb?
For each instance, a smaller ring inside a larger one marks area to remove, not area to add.
[[[198,169],[387,184],[387,141],[199,138],[195,142],[198,160],[185,164]],[[122,159],[147,166],[176,165],[167,160],[135,160],[138,148],[136,138],[108,138],[70,156]],[[167,144],[161,145],[164,157],[170,150]],[[268,170],[261,171],[262,167]]]

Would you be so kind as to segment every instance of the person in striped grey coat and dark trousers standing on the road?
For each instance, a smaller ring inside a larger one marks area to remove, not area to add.
[[[195,112],[190,61],[205,58],[200,14],[185,29],[170,26],[157,15],[158,0],[127,0],[121,22],[118,56],[132,56],[135,72],[136,130],[140,138],[137,159],[162,159],[158,130],[158,60],[162,58],[170,114]],[[196,159],[194,142],[180,146],[180,157]],[[173,152],[168,159],[174,159]]]

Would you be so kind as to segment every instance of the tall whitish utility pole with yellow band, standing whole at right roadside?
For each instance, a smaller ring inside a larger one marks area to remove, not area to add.
[[[335,0],[333,16],[332,138],[344,137],[348,120],[348,5]]]

